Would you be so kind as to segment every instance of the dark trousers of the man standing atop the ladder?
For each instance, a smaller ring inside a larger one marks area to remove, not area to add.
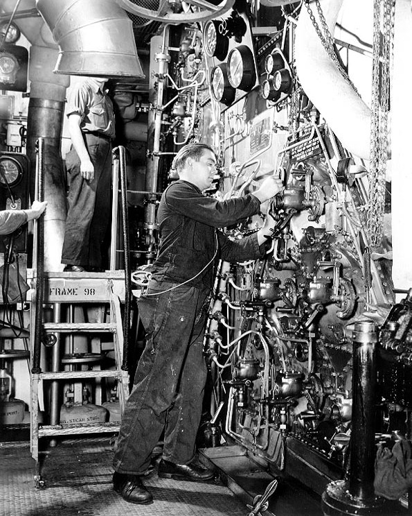
[[[69,175],[69,209],[62,250],[62,264],[102,266],[102,243],[110,220],[111,141],[84,135],[94,179],[80,174],[80,159],[72,147],[66,155]]]

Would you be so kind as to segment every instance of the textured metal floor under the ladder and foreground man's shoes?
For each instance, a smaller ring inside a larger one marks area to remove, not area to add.
[[[64,440],[42,452],[46,489],[35,488],[28,442],[0,442],[1,516],[247,516],[249,510],[220,481],[145,479],[154,503],[128,504],[111,488],[109,438]]]

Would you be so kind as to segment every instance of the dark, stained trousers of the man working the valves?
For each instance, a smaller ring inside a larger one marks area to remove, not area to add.
[[[157,291],[175,285],[153,280],[152,284]],[[178,464],[194,458],[207,375],[203,356],[207,294],[183,285],[139,300],[146,347],[120,425],[116,471],[143,474],[163,429],[163,458]]]

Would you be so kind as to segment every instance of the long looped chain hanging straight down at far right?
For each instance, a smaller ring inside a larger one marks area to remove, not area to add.
[[[393,55],[395,0],[375,0],[370,121],[370,171],[366,230],[370,246],[379,246],[385,207],[388,159],[389,80]]]

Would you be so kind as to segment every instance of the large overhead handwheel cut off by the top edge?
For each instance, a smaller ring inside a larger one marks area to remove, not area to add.
[[[208,19],[220,17],[231,9],[235,0],[223,0],[217,4],[207,0],[177,0],[173,3],[169,0],[159,0],[159,6],[156,10],[144,7],[144,4],[150,4],[147,0],[139,0],[139,2],[142,5],[138,5],[136,0],[116,0],[120,7],[135,15],[155,19],[157,22],[177,25],[190,22],[206,22]],[[176,12],[177,4],[181,4],[181,12]]]

